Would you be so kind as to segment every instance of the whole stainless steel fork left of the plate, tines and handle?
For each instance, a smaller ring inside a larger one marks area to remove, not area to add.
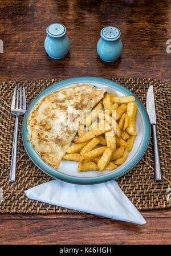
[[[17,91],[17,101],[15,103]],[[20,101],[19,101],[20,94]],[[23,100],[22,100],[23,99]],[[19,101],[19,107],[18,107]],[[14,129],[14,139],[13,139],[13,151],[11,156],[11,168],[10,168],[10,182],[15,182],[15,173],[16,173],[16,161],[17,161],[17,139],[18,139],[18,119],[19,116],[23,115],[26,112],[26,95],[25,95],[25,87],[23,87],[23,97],[22,97],[22,87],[15,87],[13,100],[11,103],[11,113],[16,116],[15,119],[15,129]]]

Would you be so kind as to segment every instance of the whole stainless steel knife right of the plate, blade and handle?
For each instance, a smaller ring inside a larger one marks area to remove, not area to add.
[[[158,141],[157,141],[156,110],[155,110],[153,86],[149,86],[148,92],[146,94],[146,110],[148,112],[150,123],[152,125],[152,130],[153,130],[155,180],[161,180],[161,166],[160,166],[160,155],[159,155]]]

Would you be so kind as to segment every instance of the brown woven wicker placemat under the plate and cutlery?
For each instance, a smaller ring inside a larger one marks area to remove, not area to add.
[[[27,104],[48,86],[62,79],[4,82],[0,83],[0,213],[47,214],[71,213],[74,210],[30,200],[24,191],[36,185],[53,180],[38,169],[28,158],[21,139],[22,118],[19,120],[18,158],[16,182],[9,182],[11,151],[15,117],[11,115],[10,103],[15,86],[26,89]],[[154,86],[156,100],[158,144],[162,169],[162,181],[154,181],[152,140],[139,164],[117,179],[117,183],[129,200],[139,210],[165,209],[171,206],[170,170],[170,86],[150,78],[111,79],[132,91],[145,106],[146,92],[150,84]]]

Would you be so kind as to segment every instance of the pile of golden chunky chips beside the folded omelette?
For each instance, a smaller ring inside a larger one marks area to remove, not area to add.
[[[107,92],[80,124],[78,137],[67,148],[68,154],[63,159],[79,161],[78,172],[103,172],[123,164],[137,135],[137,104],[134,101],[134,96],[118,97]],[[85,127],[88,127],[87,132]]]

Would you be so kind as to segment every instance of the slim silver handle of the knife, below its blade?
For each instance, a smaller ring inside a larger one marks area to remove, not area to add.
[[[155,180],[161,180],[161,166],[160,166],[160,155],[158,150],[158,141],[157,141],[157,129],[156,124],[152,124],[153,128],[153,147],[154,147],[154,172]]]

